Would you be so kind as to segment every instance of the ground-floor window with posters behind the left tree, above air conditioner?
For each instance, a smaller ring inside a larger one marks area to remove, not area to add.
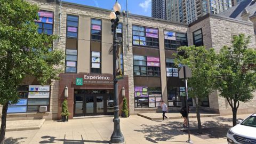
[[[7,113],[39,112],[40,106],[50,105],[50,85],[21,85],[17,89],[19,101],[9,105]]]

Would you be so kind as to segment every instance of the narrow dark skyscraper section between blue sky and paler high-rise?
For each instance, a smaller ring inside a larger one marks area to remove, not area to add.
[[[152,0],[152,17],[166,19],[166,0]]]

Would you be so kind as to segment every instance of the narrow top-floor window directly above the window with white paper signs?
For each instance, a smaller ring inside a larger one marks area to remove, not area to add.
[[[91,19],[91,39],[101,41],[101,20]]]

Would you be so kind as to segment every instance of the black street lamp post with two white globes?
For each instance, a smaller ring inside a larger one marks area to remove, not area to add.
[[[110,19],[111,19],[111,28],[113,31],[113,81],[114,81],[114,96],[115,96],[115,106],[114,106],[114,131],[111,135],[109,143],[125,143],[124,142],[124,136],[120,130],[120,119],[118,117],[118,111],[119,111],[119,105],[118,105],[118,97],[117,97],[117,79],[116,79],[116,49],[117,49],[117,44],[119,43],[116,38],[116,29],[118,26],[119,18],[118,15],[120,14],[121,11],[121,5],[118,4],[116,1],[114,7],[114,12],[110,13]]]

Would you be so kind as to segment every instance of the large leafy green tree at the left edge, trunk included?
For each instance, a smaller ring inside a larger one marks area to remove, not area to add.
[[[56,36],[38,34],[34,20],[38,7],[22,0],[0,0],[0,105],[2,123],[0,143],[4,143],[6,113],[9,104],[17,103],[17,86],[26,76],[49,84],[58,79],[65,55],[49,51]]]

